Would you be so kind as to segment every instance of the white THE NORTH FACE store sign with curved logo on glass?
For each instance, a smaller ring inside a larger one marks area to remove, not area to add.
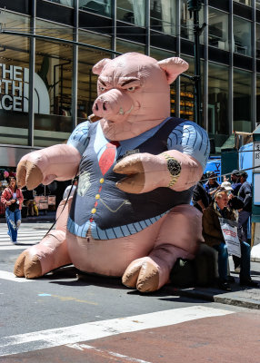
[[[28,112],[29,69],[0,64],[0,110]],[[42,78],[35,74],[35,113],[50,113],[50,98]]]

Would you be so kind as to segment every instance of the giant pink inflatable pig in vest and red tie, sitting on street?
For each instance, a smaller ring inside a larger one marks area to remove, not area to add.
[[[195,256],[201,213],[190,205],[205,168],[208,137],[197,124],[170,117],[170,87],[188,64],[128,53],[103,59],[93,112],[66,144],[25,155],[18,183],[28,189],[72,179],[73,198],[55,231],[25,250],[15,275],[34,279],[73,263],[79,270],[122,277],[142,292],[160,289],[176,259]]]

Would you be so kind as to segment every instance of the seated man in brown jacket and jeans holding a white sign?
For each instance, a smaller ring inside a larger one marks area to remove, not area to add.
[[[237,212],[228,207],[228,191],[219,188],[213,201],[203,213],[203,236],[205,243],[218,252],[218,286],[226,291],[231,290],[227,281],[228,251],[222,233],[219,218],[237,221]],[[241,270],[240,285],[256,287],[258,284],[250,277],[250,246],[245,240],[240,240],[241,245]]]

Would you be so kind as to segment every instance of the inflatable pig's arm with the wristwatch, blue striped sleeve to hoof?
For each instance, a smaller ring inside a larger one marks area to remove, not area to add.
[[[159,155],[139,153],[125,157],[114,171],[128,175],[117,182],[126,192],[141,193],[159,187],[185,191],[201,178],[209,155],[209,141],[204,129],[192,122],[179,124],[167,141],[168,151]],[[180,173],[175,178],[168,170],[168,161],[175,160]]]

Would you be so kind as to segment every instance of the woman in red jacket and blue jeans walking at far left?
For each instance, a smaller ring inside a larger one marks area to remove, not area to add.
[[[8,227],[8,235],[13,243],[17,243],[17,232],[21,224],[21,210],[24,196],[17,187],[15,176],[8,179],[8,185],[1,195],[1,201],[5,204],[5,218]]]

